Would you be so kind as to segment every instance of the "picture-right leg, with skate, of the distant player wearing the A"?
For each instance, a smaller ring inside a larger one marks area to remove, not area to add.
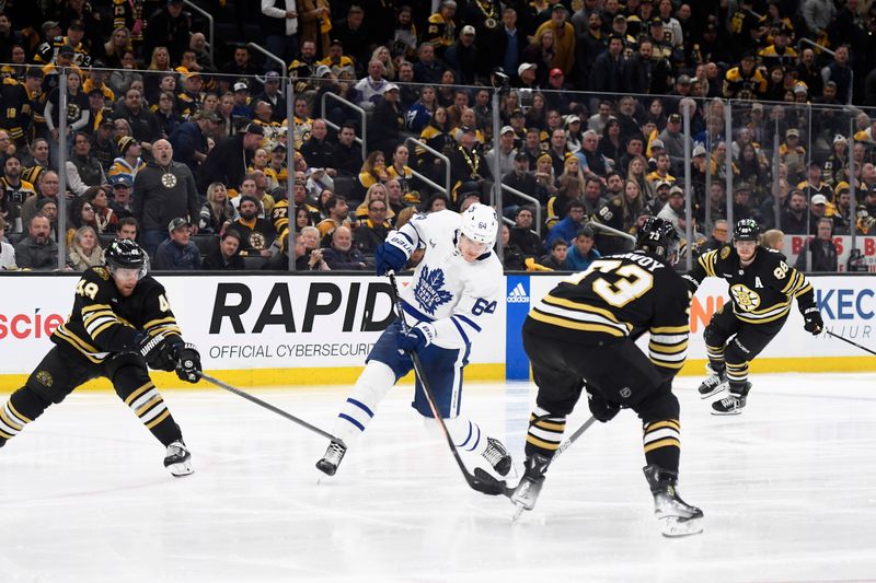
[[[782,318],[769,324],[746,324],[739,327],[733,340],[727,343],[727,380],[729,394],[712,404],[712,415],[739,415],[748,401],[751,383],[748,381],[748,363],[760,354],[782,326]]]

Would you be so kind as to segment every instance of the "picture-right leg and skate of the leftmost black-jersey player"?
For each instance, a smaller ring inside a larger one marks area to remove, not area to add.
[[[166,447],[164,467],[177,477],[192,474],[192,454],[183,442],[183,433],[149,377],[143,360],[137,354],[118,354],[104,364],[104,371],[118,398]]]

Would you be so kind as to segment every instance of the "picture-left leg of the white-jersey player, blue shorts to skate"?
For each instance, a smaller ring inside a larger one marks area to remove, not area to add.
[[[365,432],[377,412],[377,406],[399,378],[413,368],[411,357],[399,352],[399,322],[390,324],[380,335],[356,384],[337,413],[332,434],[343,443],[331,442],[316,468],[334,476],[347,448]]]

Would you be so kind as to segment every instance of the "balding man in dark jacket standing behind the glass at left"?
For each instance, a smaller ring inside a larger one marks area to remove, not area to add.
[[[152,154],[153,160],[134,180],[134,217],[142,229],[141,243],[150,254],[166,238],[171,220],[183,217],[188,223],[200,213],[195,178],[188,166],[174,162],[171,143],[158,140]]]

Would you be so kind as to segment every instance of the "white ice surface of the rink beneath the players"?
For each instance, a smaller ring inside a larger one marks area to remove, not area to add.
[[[0,450],[0,582],[876,581],[876,375],[753,375],[729,418],[699,381],[676,383],[679,491],[705,513],[684,539],[657,529],[630,411],[590,428],[511,524],[410,386],[320,483],[325,440],[230,393],[163,390],[193,451],[182,479],[114,395],[73,394]],[[347,389],[253,393],[331,430]],[[519,465],[533,396],[469,385],[463,411]]]

